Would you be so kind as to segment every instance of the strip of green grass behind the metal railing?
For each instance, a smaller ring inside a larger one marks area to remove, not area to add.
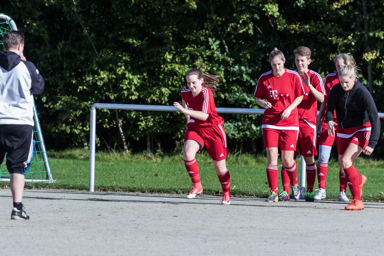
[[[89,151],[72,149],[49,152],[48,155],[55,183],[27,183],[35,188],[88,190]],[[203,152],[196,157],[205,195],[221,195],[221,187],[209,156]],[[300,159],[298,180],[300,181]],[[266,197],[268,183],[265,173],[266,157],[263,155],[228,155],[227,167],[231,175],[232,196]],[[359,157],[354,163],[368,180],[364,186],[366,201],[384,201],[384,161]],[[327,175],[327,199],[336,199],[339,193],[338,163],[330,160]],[[279,167],[280,168],[280,167]],[[280,176],[280,171],[279,171]],[[300,182],[299,182],[300,183]],[[0,182],[0,187],[9,186]],[[279,177],[279,188],[281,189]],[[182,154],[110,154],[99,152],[95,162],[95,191],[172,193],[185,194],[192,183],[185,171]],[[315,188],[318,188],[317,180]],[[351,198],[349,190],[347,196]]]

